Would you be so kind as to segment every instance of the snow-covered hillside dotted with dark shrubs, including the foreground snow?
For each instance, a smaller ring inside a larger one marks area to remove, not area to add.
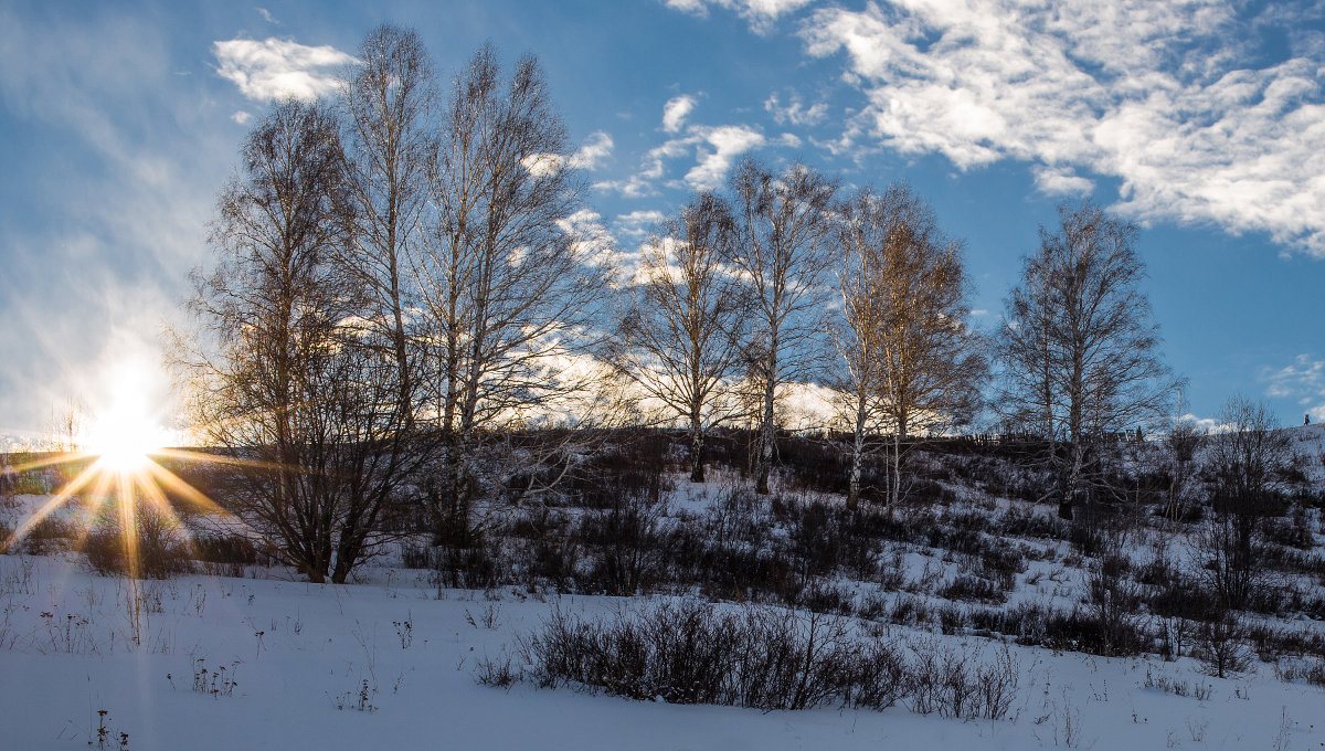
[[[179,550],[211,560],[135,584],[81,498],[0,556],[7,744],[1318,748],[1325,430],[1289,434],[1306,482],[1227,630],[1212,511],[1169,521],[1137,474],[1132,501],[1064,522],[996,444],[918,446],[912,502],[849,514],[812,441],[783,444],[770,498],[738,442],[702,486],[669,440],[621,442],[485,509],[482,547],[407,538],[347,585],[204,514]]]

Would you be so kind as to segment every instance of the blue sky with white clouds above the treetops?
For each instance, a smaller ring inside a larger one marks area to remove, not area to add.
[[[1325,420],[1325,11],[1026,5],[0,3],[0,433],[117,379],[166,393],[159,332],[253,118],[327,90],[383,21],[448,77],[484,41],[537,54],[624,252],[746,154],[908,180],[992,326],[1039,225],[1090,197],[1143,228],[1195,416],[1240,392]]]

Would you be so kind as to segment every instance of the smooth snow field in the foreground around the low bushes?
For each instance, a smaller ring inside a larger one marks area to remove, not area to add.
[[[372,583],[352,585],[144,581],[135,645],[126,580],[86,574],[76,554],[0,556],[0,747],[97,747],[102,727],[105,747],[125,732],[136,750],[1325,747],[1325,691],[1268,666],[1218,679],[1187,658],[1040,648],[1012,648],[1019,695],[1011,719],[992,722],[904,706],[765,714],[529,683],[507,691],[478,685],[480,661],[511,654],[554,605],[612,613],[623,600],[439,591],[421,571],[367,574]],[[1189,695],[1145,687],[1165,681]]]

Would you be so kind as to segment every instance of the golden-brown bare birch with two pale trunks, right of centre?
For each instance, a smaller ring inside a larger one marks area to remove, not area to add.
[[[871,424],[892,433],[888,499],[902,495],[902,442],[963,424],[979,408],[987,372],[966,319],[962,246],[943,236],[934,212],[906,185],[857,192],[839,209],[847,336],[841,387],[851,393],[852,481],[859,495]]]

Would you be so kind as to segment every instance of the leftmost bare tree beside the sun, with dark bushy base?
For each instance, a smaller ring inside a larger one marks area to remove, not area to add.
[[[408,476],[390,358],[364,346],[371,307],[335,260],[347,242],[339,126],[278,103],[220,195],[217,264],[195,273],[201,330],[179,352],[204,441],[235,468],[227,506],[311,581],[344,581],[383,539]]]

